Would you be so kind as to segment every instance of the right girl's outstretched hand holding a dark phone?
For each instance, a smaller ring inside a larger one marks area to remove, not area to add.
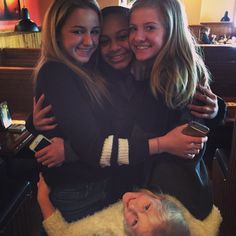
[[[160,152],[192,159],[204,147],[205,137],[193,137],[182,133],[187,124],[180,125],[159,138]]]

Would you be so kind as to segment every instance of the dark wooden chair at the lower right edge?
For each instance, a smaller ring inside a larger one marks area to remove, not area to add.
[[[213,196],[223,216],[220,235],[234,236],[236,235],[236,119],[230,156],[227,158],[223,153],[222,150],[217,150],[213,161]]]

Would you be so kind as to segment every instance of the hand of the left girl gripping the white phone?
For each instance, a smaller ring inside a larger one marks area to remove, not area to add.
[[[64,140],[55,137],[52,143],[35,153],[37,162],[48,168],[57,167],[65,161]]]

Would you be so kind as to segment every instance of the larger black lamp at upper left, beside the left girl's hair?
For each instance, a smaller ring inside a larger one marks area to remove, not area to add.
[[[15,31],[19,32],[39,32],[38,26],[30,20],[29,11],[26,7],[21,9],[21,19],[15,26]]]

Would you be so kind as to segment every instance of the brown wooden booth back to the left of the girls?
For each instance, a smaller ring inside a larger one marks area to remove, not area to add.
[[[39,57],[39,48],[0,49],[0,102],[7,101],[14,114],[27,117],[32,111],[32,73]]]

